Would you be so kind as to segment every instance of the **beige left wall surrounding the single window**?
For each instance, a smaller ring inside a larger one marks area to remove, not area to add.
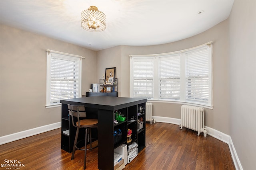
[[[95,51],[0,25],[0,136],[61,121],[61,107],[45,108],[46,49],[85,57],[82,94],[94,81]]]

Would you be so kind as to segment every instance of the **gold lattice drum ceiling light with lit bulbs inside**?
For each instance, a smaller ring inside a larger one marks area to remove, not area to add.
[[[106,15],[99,11],[96,6],[90,6],[90,9],[81,13],[81,27],[88,31],[103,31],[106,29]]]

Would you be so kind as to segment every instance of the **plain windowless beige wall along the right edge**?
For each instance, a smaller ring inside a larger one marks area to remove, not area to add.
[[[256,167],[256,1],[235,0],[229,18],[230,129],[244,170]]]

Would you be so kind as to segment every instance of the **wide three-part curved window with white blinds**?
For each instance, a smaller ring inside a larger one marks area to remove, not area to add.
[[[130,55],[130,97],[212,107],[212,42],[172,53]]]

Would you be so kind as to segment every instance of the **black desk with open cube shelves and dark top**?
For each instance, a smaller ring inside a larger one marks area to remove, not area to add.
[[[145,147],[146,125],[137,131],[137,121],[129,122],[127,118],[142,117],[146,122],[145,113],[137,115],[138,108],[142,106],[145,108],[147,99],[141,98],[120,98],[112,96],[92,96],[85,98],[74,98],[68,100],[60,100],[62,103],[62,132],[70,129],[70,134],[65,135],[62,133],[62,149],[67,152],[72,152],[74,145],[75,128],[72,126],[68,117],[67,104],[84,105],[88,115],[98,116],[98,169],[100,170],[113,170],[114,168],[114,149],[122,143],[126,144],[127,129],[132,129],[132,141],[135,141],[138,146],[138,152]],[[115,111],[121,111],[125,116],[125,121],[118,121],[114,124]],[[113,133],[114,129],[120,128],[123,133],[123,140],[114,145]]]

